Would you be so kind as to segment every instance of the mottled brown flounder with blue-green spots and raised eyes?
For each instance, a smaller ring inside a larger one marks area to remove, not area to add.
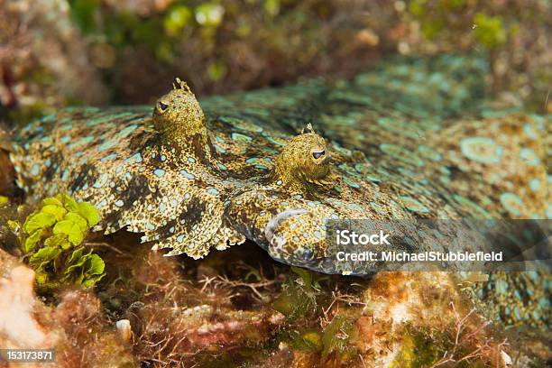
[[[200,107],[177,79],[153,115],[69,108],[30,124],[11,159],[32,198],[89,201],[106,234],[126,227],[194,258],[249,238],[278,261],[328,271],[327,219],[552,217],[550,118],[487,103],[486,68],[453,56],[388,60],[353,81]],[[549,320],[549,282],[523,313]]]

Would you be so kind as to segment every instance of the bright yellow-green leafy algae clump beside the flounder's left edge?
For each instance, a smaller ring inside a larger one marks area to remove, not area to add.
[[[82,244],[98,221],[95,207],[58,194],[43,199],[41,208],[27,216],[23,225],[8,222],[17,235],[23,258],[36,272],[41,293],[68,284],[87,288],[104,277],[104,261]]]

